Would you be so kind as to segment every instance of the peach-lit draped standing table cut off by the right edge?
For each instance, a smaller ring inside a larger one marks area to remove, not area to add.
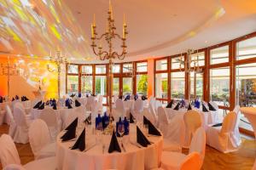
[[[247,120],[251,123],[254,131],[254,136],[256,136],[256,108],[255,107],[241,107],[241,113],[247,117]],[[256,169],[256,160],[253,164],[253,169]]]

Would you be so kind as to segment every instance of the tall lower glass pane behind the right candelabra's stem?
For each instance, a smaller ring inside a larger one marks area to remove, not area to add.
[[[195,74],[195,72],[191,72],[190,73],[190,100],[196,99],[196,98],[202,99],[202,95],[203,95],[203,74],[202,73]]]

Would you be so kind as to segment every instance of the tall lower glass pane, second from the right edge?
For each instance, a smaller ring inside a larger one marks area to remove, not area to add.
[[[218,105],[230,106],[230,67],[211,69],[210,98]]]

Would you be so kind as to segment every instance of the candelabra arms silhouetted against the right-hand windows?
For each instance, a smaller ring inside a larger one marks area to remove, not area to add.
[[[196,57],[193,57],[192,54],[196,53]],[[201,73],[202,69],[199,66],[199,54],[198,50],[188,49],[187,51],[187,59],[182,59],[183,55],[180,54],[179,59],[179,70],[182,71],[184,68],[184,72],[195,72]]]

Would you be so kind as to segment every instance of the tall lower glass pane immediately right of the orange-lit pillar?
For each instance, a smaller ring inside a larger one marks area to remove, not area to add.
[[[168,74],[167,73],[159,73],[155,74],[155,97],[167,99],[168,98]]]

